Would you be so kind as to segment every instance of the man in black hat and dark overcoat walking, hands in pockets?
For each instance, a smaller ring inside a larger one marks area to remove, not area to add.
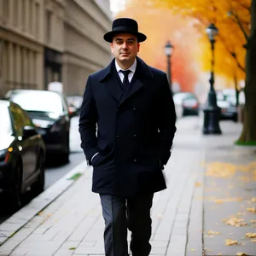
[[[79,132],[102,202],[106,256],[128,255],[127,228],[132,255],[149,255],[153,195],[166,189],[176,113],[166,73],[137,57],[146,38],[136,20],[113,20],[104,39],[114,59],[84,91]]]

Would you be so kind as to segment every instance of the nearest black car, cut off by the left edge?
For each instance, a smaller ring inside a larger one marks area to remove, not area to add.
[[[9,208],[20,207],[28,187],[44,190],[44,160],[44,141],[26,111],[0,100],[0,192]]]

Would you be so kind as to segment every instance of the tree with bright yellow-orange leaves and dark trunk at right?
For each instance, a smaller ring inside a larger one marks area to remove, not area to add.
[[[216,73],[236,79],[237,73],[246,76],[243,130],[237,143],[256,144],[256,0],[143,1],[197,20],[201,32],[212,22],[218,26],[218,49],[225,49],[226,55],[218,55],[217,49]]]

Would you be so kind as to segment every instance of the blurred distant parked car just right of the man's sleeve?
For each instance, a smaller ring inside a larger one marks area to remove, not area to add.
[[[177,92],[173,96],[177,117],[185,115],[198,115],[199,102],[195,94],[191,92]]]

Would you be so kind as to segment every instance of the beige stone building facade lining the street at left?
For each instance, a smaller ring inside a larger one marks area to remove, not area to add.
[[[51,81],[81,95],[111,59],[102,39],[111,22],[108,0],[0,0],[0,96]]]

